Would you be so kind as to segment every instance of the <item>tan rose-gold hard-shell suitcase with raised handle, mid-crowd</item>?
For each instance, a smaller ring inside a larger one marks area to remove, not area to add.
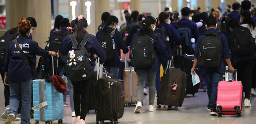
[[[127,56],[127,54],[125,54]],[[127,59],[125,59],[125,69],[123,70],[123,93],[124,93],[124,106],[137,103],[137,75],[134,67],[128,67]],[[142,97],[142,101],[143,101]],[[143,102],[142,102],[143,103]]]

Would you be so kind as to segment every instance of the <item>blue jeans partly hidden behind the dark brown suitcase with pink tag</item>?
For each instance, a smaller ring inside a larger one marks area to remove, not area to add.
[[[159,91],[160,91],[160,84],[161,84],[161,82],[160,82],[160,66],[161,66],[161,63],[162,63],[162,66],[165,69],[166,66],[167,66],[168,59],[165,58],[165,56],[160,55],[160,54],[157,55],[157,58],[158,58],[158,67],[159,67],[159,69],[156,72],[155,89],[156,89],[156,93],[159,93]]]

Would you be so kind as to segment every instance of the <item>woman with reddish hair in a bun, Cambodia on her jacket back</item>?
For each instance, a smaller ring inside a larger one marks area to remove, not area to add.
[[[30,123],[32,78],[37,75],[37,73],[32,70],[37,64],[36,55],[44,57],[49,55],[56,56],[55,52],[43,50],[37,45],[36,41],[29,39],[31,33],[29,21],[21,18],[17,29],[20,32],[20,36],[16,38],[16,40],[10,41],[3,67],[5,72],[4,83],[10,86],[11,91],[10,109],[7,112],[8,118],[5,124],[12,124],[17,114],[20,101],[22,102],[21,123]],[[13,60],[11,58],[16,59]],[[17,96],[20,97],[17,98]]]

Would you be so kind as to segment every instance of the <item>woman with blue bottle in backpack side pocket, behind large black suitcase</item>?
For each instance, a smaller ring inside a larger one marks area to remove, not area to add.
[[[103,27],[103,29],[96,33],[96,38],[103,47],[107,56],[104,67],[107,72],[115,75],[115,79],[118,78],[118,71],[119,67],[121,66],[118,49],[121,48],[124,54],[129,52],[123,41],[122,34],[116,30],[117,25],[118,18],[111,15],[107,19],[106,25]]]

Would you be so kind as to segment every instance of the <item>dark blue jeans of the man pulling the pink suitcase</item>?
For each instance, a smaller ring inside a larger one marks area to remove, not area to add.
[[[218,83],[222,79],[222,73],[216,71],[215,68],[208,69],[204,75],[207,83],[207,94],[209,98],[210,109],[216,109]]]

